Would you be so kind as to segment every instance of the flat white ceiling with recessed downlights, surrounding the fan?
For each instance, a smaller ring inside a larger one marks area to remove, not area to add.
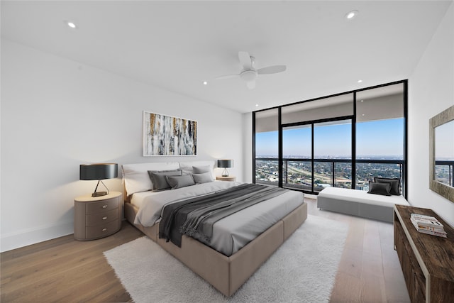
[[[452,2],[2,0],[1,36],[248,112],[407,79]],[[214,79],[240,50],[287,71]]]

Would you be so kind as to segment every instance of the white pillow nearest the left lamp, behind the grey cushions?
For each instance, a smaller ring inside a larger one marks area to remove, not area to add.
[[[146,192],[153,189],[153,183],[148,175],[148,170],[177,170],[178,162],[155,162],[123,164],[123,180],[125,182],[126,194],[130,196],[135,192]]]

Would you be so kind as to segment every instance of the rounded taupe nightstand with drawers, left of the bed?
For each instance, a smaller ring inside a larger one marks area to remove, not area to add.
[[[121,228],[121,192],[74,199],[74,238],[80,241],[110,236]]]

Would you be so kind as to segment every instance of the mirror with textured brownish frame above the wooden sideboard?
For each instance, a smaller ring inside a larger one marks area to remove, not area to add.
[[[454,202],[454,106],[429,120],[429,187]]]

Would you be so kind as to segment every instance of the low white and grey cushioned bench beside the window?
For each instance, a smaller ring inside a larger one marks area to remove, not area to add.
[[[394,204],[410,205],[402,195],[383,196],[338,187],[326,187],[317,196],[319,209],[391,223],[394,219]]]

